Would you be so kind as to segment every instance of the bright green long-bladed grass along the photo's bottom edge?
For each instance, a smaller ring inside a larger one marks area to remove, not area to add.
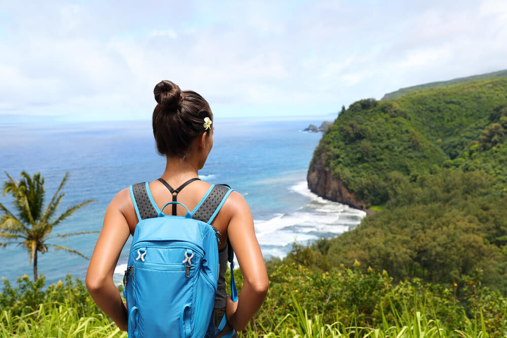
[[[470,322],[466,330],[452,330],[438,319],[430,319],[425,308],[397,315],[397,323],[389,325],[384,318],[378,328],[348,326],[339,321],[322,323],[322,315],[309,315],[295,302],[295,314],[287,314],[274,327],[275,332],[257,333],[250,324],[240,333],[242,337],[487,337],[484,319]],[[21,316],[12,311],[0,313],[0,333],[3,337],[126,337],[103,314],[80,317],[79,305],[65,303],[41,304],[39,309]],[[289,328],[292,326],[294,328]],[[15,333],[14,333],[15,332]]]

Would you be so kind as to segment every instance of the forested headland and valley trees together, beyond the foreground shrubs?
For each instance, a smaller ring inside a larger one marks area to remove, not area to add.
[[[507,292],[507,78],[360,100],[314,152],[378,212],[287,260],[322,271],[357,259],[410,277]],[[303,250],[303,249],[302,249]]]

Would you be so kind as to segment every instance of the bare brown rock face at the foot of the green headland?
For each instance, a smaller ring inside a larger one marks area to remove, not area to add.
[[[365,202],[357,200],[349,193],[343,182],[335,177],[331,170],[324,168],[322,155],[308,169],[306,180],[310,191],[322,198],[364,210],[367,214],[374,213],[373,210],[367,209]]]

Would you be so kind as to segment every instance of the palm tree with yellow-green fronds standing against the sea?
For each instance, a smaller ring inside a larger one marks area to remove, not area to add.
[[[74,211],[86,204],[95,202],[94,200],[88,200],[71,206],[61,215],[55,217],[56,210],[65,195],[61,190],[67,181],[68,172],[65,173],[60,186],[45,210],[43,204],[46,192],[44,191],[44,177],[41,177],[41,173],[30,177],[29,174],[22,171],[20,181],[14,180],[7,172],[5,173],[9,180],[4,182],[4,196],[9,193],[14,197],[14,206],[18,211],[18,215],[15,216],[13,212],[0,203],[0,211],[3,213],[0,215],[0,239],[7,240],[4,243],[0,242],[0,247],[6,247],[9,244],[18,244],[25,247],[30,256],[29,261],[32,262],[33,260],[33,279],[35,281],[37,281],[37,253],[45,253],[48,251],[48,246],[90,259],[79,251],[46,242],[52,238],[99,233],[99,231],[83,231],[50,236],[53,228],[73,214]]]

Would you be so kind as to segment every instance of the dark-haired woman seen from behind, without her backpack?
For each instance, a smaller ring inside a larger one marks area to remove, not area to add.
[[[193,91],[182,92],[170,81],[157,84],[154,94],[158,104],[153,111],[153,134],[158,152],[166,156],[167,163],[161,179],[149,182],[149,190],[160,209],[173,200],[167,185],[180,186],[190,180],[176,198],[192,210],[210,187],[207,182],[192,179],[198,177],[198,170],[204,166],[213,146],[213,115],[201,95]],[[167,207],[165,213],[170,209]],[[186,210],[177,205],[173,212],[183,216]],[[129,189],[120,191],[107,207],[86,275],[86,286],[94,301],[124,331],[127,330],[127,310],[113,282],[113,273],[125,242],[134,233],[137,218]],[[220,265],[223,257],[227,257],[229,239],[243,274],[243,287],[234,303],[225,291],[225,271],[220,271],[213,313],[218,327],[226,312],[228,323],[217,335],[221,337],[233,328],[242,330],[246,327],[264,302],[268,276],[250,209],[240,194],[232,192],[227,197],[211,224],[218,230],[217,234],[220,233]]]

